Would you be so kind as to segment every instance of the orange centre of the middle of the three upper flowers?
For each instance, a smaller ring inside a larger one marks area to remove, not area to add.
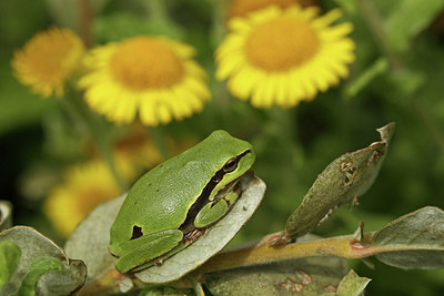
[[[111,71],[117,80],[137,91],[171,86],[184,72],[172,50],[148,37],[123,42],[111,57]]]

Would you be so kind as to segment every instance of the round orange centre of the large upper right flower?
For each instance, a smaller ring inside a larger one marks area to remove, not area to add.
[[[260,24],[248,38],[250,62],[266,71],[285,71],[310,60],[319,49],[316,32],[302,20],[283,17]]]

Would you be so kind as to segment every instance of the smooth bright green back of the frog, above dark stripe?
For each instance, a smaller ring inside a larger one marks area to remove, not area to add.
[[[124,201],[111,228],[111,238],[118,242],[130,239],[134,225],[142,227],[144,235],[179,228],[186,218],[189,207],[214,172],[238,153],[230,147],[239,149],[239,142],[243,141],[224,131],[216,131],[203,142],[145,173]],[[250,144],[243,143],[248,149]]]

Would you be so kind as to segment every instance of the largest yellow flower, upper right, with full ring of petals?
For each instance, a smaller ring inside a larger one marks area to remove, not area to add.
[[[354,42],[351,23],[332,27],[339,10],[319,17],[319,9],[270,7],[234,18],[215,52],[216,78],[228,79],[236,98],[256,108],[291,108],[312,100],[349,75]]]

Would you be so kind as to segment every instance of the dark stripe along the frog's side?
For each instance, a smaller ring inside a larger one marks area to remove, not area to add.
[[[243,153],[239,154],[236,156],[236,163],[249,154],[251,150],[246,150]],[[195,216],[209,202],[209,196],[211,195],[211,192],[214,190],[214,187],[223,180],[223,176],[226,173],[223,171],[223,167],[215,172],[214,176],[210,180],[209,183],[206,183],[205,187],[202,190],[201,195],[199,195],[198,200],[194,202],[194,204],[190,207],[185,221],[182,223],[182,225],[179,227],[180,231],[186,232],[186,228],[189,228],[189,225],[192,225],[194,222]]]

